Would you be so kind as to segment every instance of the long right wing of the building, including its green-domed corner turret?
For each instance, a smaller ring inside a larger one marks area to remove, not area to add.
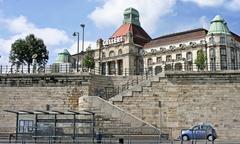
[[[202,28],[161,36],[146,43],[144,67],[155,74],[163,70],[197,71],[199,50],[206,62],[204,70],[235,70],[240,68],[240,37],[229,31],[227,23],[217,15],[210,29]]]

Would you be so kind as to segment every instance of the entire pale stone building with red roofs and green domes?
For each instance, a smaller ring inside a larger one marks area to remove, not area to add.
[[[151,39],[141,27],[138,11],[128,8],[123,24],[112,36],[97,41],[94,58],[103,75],[158,74],[199,70],[195,64],[199,50],[206,59],[201,70],[240,68],[240,36],[228,29],[221,16],[211,21],[209,30],[199,28]]]

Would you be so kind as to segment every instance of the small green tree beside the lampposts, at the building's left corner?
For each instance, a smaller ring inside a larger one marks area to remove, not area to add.
[[[86,54],[84,56],[83,65],[88,69],[93,69],[95,67],[93,51],[91,50],[90,46],[87,48]]]

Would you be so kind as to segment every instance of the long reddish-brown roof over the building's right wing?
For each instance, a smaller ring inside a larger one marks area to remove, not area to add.
[[[203,28],[188,30],[179,33],[173,33],[165,36],[161,36],[155,39],[152,39],[150,42],[144,45],[144,48],[156,47],[161,45],[169,45],[173,43],[180,43],[183,41],[190,41],[205,38],[207,35],[207,30]]]

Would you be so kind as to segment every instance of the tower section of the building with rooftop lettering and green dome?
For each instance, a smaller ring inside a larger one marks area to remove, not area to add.
[[[105,75],[140,74],[144,68],[141,50],[150,40],[140,25],[138,11],[128,8],[123,24],[113,35],[106,41],[97,41],[96,67]]]

